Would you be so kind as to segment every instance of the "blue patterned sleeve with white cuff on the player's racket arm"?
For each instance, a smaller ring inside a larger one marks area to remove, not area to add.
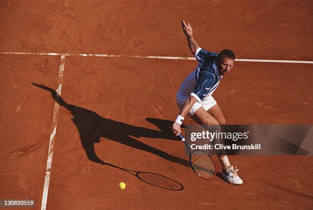
[[[214,86],[215,72],[208,69],[202,69],[198,74],[197,83],[190,95],[195,97],[198,102],[202,102]]]

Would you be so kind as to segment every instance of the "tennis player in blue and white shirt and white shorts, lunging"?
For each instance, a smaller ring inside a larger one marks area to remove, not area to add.
[[[193,38],[190,24],[182,21],[182,27],[198,65],[183,81],[176,95],[180,112],[171,128],[175,135],[181,133],[181,125],[187,114],[199,125],[225,124],[225,118],[212,94],[220,79],[231,72],[235,62],[235,55],[231,50],[223,50],[217,54],[201,49]],[[242,184],[243,181],[237,175],[237,167],[230,164],[227,155],[219,155],[218,159],[223,167],[222,178],[232,184]]]

